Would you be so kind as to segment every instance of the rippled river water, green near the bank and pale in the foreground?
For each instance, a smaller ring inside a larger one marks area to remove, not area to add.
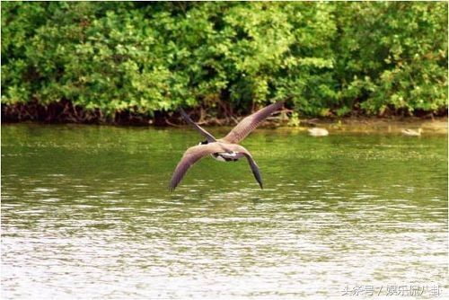
[[[169,193],[199,139],[2,127],[4,298],[338,297],[357,285],[447,295],[445,136],[258,130],[242,144],[265,190],[247,163],[207,158]]]

